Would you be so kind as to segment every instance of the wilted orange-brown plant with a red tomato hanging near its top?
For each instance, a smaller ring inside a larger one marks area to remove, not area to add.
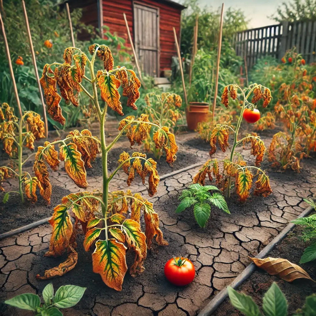
[[[256,134],[246,134],[246,137],[238,140],[240,124],[245,109],[255,108],[256,103],[261,99],[264,100],[263,106],[267,106],[271,100],[271,93],[270,89],[255,83],[249,87],[248,94],[245,95],[245,92],[238,85],[230,84],[224,88],[222,94],[222,104],[228,107],[229,97],[234,100],[237,99],[238,89],[241,91],[243,96],[243,103],[236,128],[234,129],[229,125],[218,124],[216,127],[214,127],[210,137],[210,156],[212,156],[216,152],[216,142],[218,142],[222,151],[225,152],[229,146],[229,133],[233,134],[234,143],[231,149],[230,158],[220,161],[217,159],[210,159],[207,161],[193,178],[193,183],[204,185],[206,175],[208,175],[210,181],[212,181],[213,177],[211,174],[213,173],[216,177],[216,184],[218,185],[218,188],[225,193],[226,198],[230,197],[231,190],[234,189],[240,197],[240,201],[244,202],[249,196],[250,189],[252,187],[252,179],[256,175],[258,175],[258,179],[255,182],[256,188],[254,190],[254,194],[262,194],[264,197],[266,197],[272,192],[270,188],[269,177],[262,169],[259,168],[266,150],[264,142]],[[249,102],[248,98],[252,93],[252,102]],[[238,145],[245,145],[249,142],[251,143],[251,154],[256,156],[256,166],[247,166],[246,162],[242,160],[240,155],[235,155],[235,149]],[[220,162],[223,163],[222,173],[219,171]],[[256,173],[252,174],[250,169],[255,169]]]

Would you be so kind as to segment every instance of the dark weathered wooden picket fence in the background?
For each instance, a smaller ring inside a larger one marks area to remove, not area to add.
[[[316,61],[316,21],[285,21],[239,32],[233,46],[238,56],[246,58],[248,68],[263,56],[281,59],[294,46],[307,63],[312,63]]]

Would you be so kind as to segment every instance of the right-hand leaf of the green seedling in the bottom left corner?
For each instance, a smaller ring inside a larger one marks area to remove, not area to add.
[[[56,291],[53,303],[58,308],[72,307],[80,301],[86,289],[76,285],[61,286]]]

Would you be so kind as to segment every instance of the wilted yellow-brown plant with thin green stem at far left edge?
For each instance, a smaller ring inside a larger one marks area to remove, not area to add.
[[[24,191],[26,196],[35,203],[37,201],[36,188],[39,186],[40,194],[44,196],[44,190],[36,177],[32,177],[27,171],[23,171],[23,164],[28,160],[28,156],[23,161],[23,148],[27,147],[34,150],[34,141],[45,137],[44,122],[40,119],[40,115],[25,111],[23,117],[18,119],[14,115],[14,109],[7,103],[0,106],[0,139],[3,143],[4,151],[9,155],[12,166],[0,167],[0,189],[4,179],[16,177],[19,180],[19,191],[6,192],[3,202],[6,203],[10,193],[17,193],[24,202]],[[50,190],[51,190],[50,186]],[[49,201],[48,201],[49,202]]]

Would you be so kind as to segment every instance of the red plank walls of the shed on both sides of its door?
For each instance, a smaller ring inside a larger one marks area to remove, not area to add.
[[[129,43],[123,13],[126,14],[130,32],[133,38],[133,1],[132,0],[103,0],[103,24],[110,27],[110,32],[116,32]],[[177,55],[174,43],[173,27],[180,36],[181,9],[173,8],[161,1],[140,0],[134,3],[159,8],[160,16],[160,72],[171,69],[171,57]],[[129,44],[127,45],[129,46]]]

